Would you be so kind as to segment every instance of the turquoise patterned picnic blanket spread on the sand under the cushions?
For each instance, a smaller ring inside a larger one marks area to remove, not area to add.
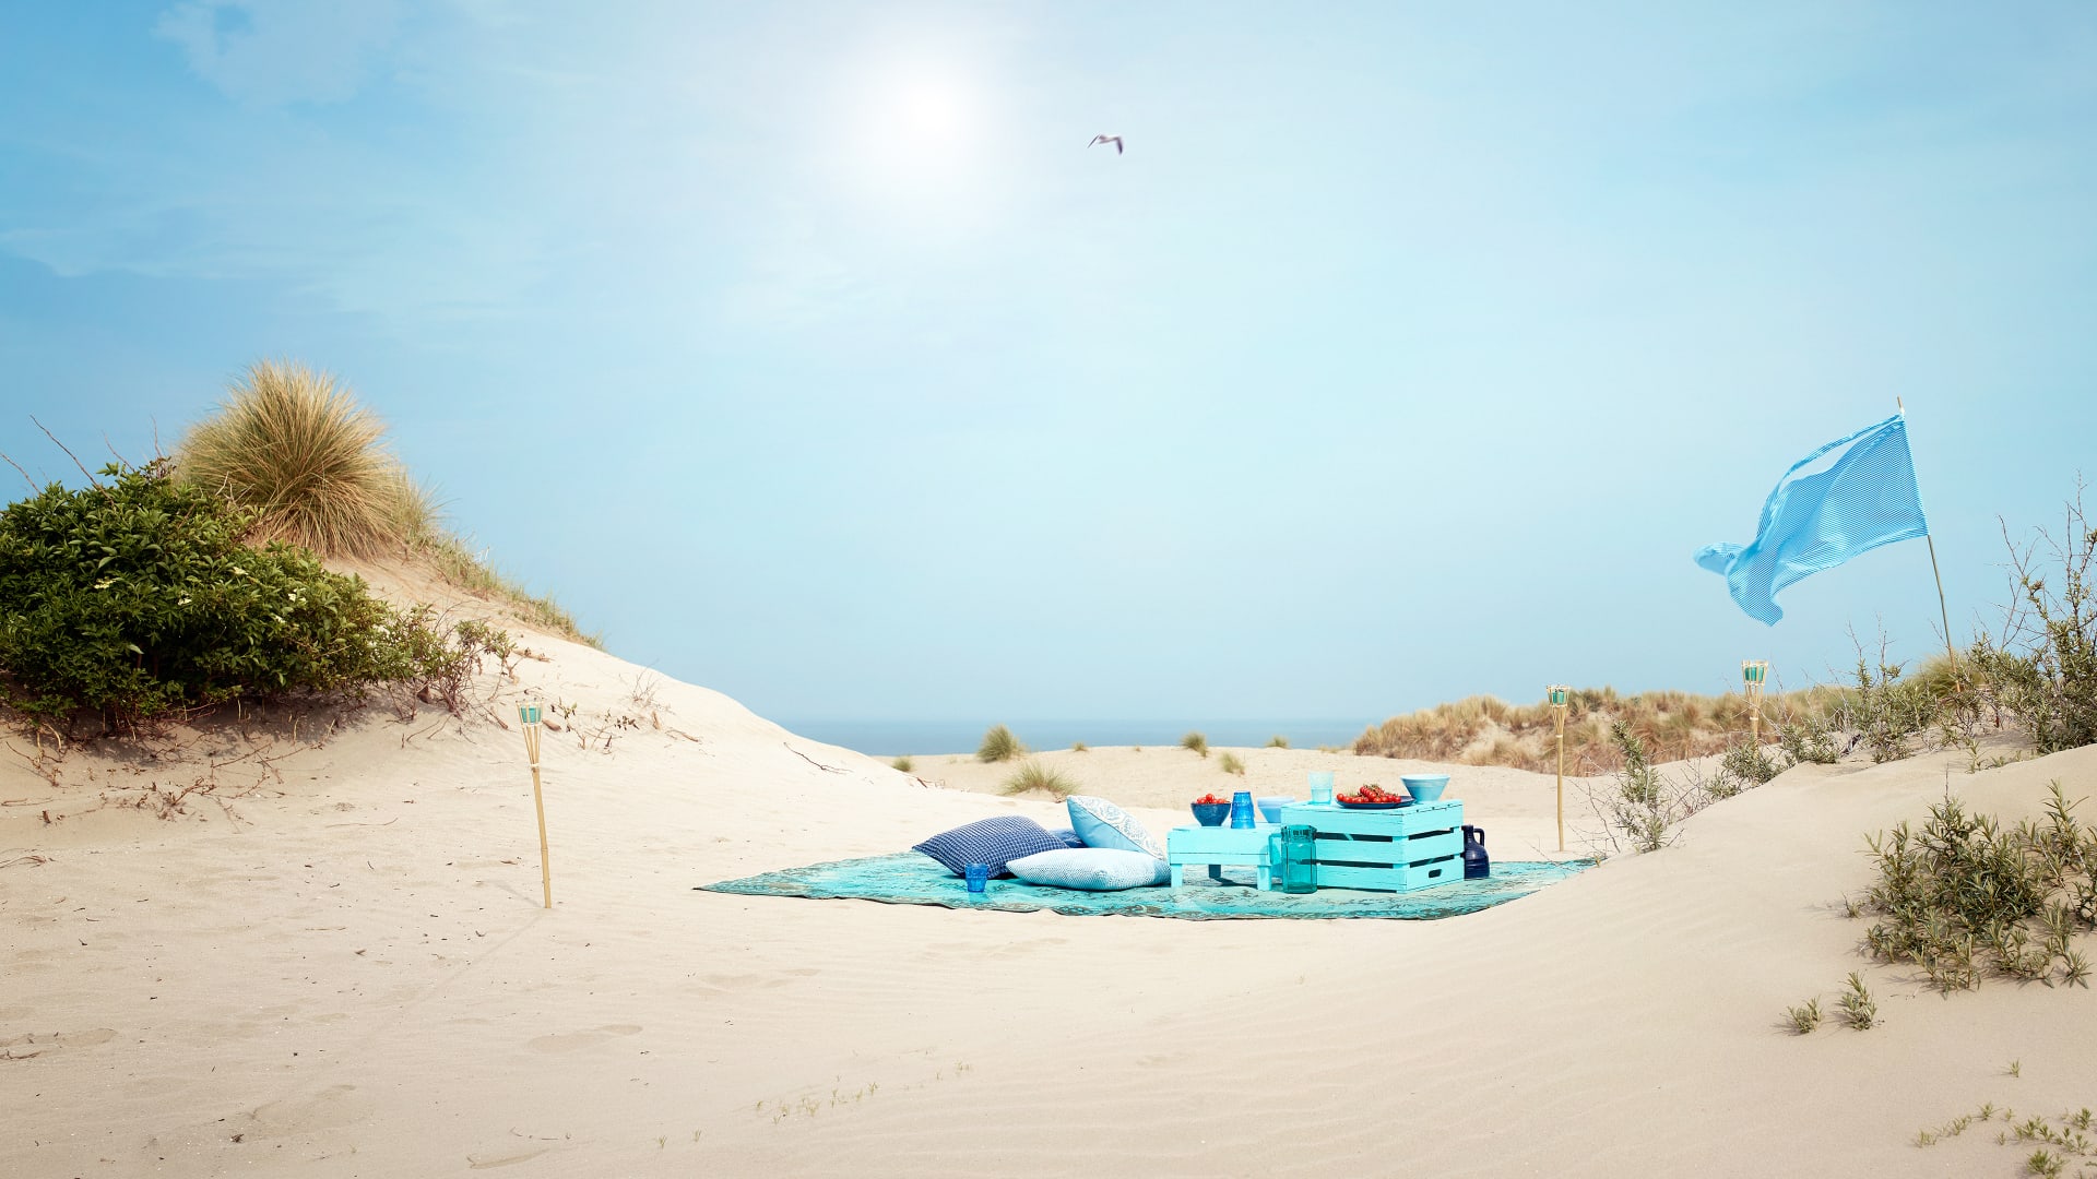
[[[971,898],[960,877],[948,873],[929,856],[898,852],[893,856],[835,860],[696,885],[694,892],[942,904],[946,908],[998,908],[1004,913],[1048,908],[1069,917],[1179,917],[1181,921],[1223,921],[1233,917],[1384,917],[1436,921],[1506,904],[1590,866],[1594,866],[1590,860],[1510,860],[1495,862],[1491,877],[1451,881],[1418,892],[1321,887],[1306,894],[1258,892],[1252,887],[1250,869],[1225,869],[1220,881],[1210,879],[1208,873],[1197,869],[1187,875],[1185,887],[1160,885],[1124,892],[1078,892],[996,879],[990,881],[990,892]]]

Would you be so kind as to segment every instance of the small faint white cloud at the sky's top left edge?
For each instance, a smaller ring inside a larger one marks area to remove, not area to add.
[[[281,107],[354,97],[396,25],[392,0],[182,0],[153,31],[229,99]]]

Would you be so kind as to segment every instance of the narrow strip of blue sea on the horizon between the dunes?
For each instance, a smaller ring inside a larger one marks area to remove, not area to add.
[[[1086,745],[1160,745],[1176,747],[1189,732],[1199,732],[1218,749],[1262,747],[1275,736],[1292,749],[1334,745],[1348,749],[1371,724],[1382,720],[780,720],[791,732],[809,741],[856,749],[870,757],[902,757],[906,753],[975,753],[992,724],[1004,724],[1028,749],[1069,749]]]

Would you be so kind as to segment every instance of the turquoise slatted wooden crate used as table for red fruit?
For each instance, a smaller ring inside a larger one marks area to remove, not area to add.
[[[1281,808],[1281,822],[1317,829],[1317,885],[1411,892],[1464,879],[1464,803],[1399,810],[1327,803]]]

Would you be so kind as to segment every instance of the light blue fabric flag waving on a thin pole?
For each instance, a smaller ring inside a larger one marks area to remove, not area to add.
[[[1923,493],[1900,413],[1791,464],[1761,506],[1747,548],[1705,545],[1696,564],[1717,573],[1751,619],[1776,625],[1776,592],[1860,552],[1929,535]]]

